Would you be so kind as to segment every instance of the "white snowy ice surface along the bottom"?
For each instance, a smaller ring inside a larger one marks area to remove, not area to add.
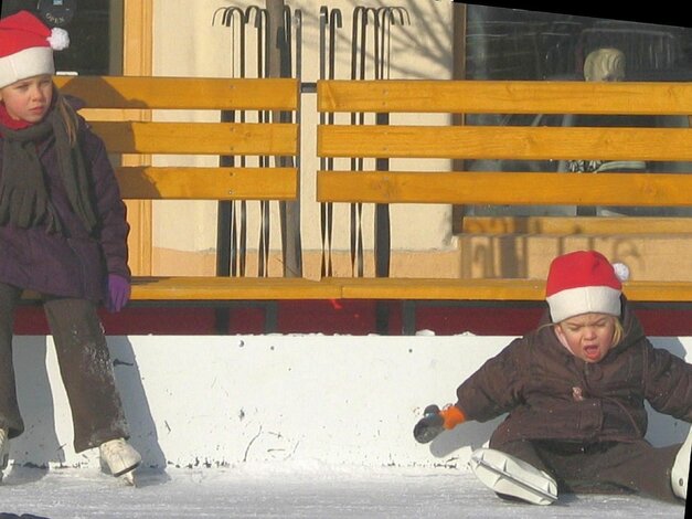
[[[137,487],[97,468],[12,467],[0,518],[667,518],[685,507],[636,496],[562,496],[541,507],[503,501],[465,467],[239,464],[141,472]],[[11,516],[10,516],[11,517]]]

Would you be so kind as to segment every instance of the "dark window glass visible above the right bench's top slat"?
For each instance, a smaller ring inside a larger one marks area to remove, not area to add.
[[[631,81],[691,76],[688,28],[472,4],[467,17],[469,80],[581,80],[584,59],[601,47],[622,51]]]

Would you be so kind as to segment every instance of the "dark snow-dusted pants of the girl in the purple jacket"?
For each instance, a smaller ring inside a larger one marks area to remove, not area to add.
[[[10,437],[24,431],[12,363],[14,310],[21,293],[20,288],[0,283],[0,427],[8,428]],[[127,438],[127,423],[96,306],[84,299],[44,297],[43,308],[72,410],[75,451]]]

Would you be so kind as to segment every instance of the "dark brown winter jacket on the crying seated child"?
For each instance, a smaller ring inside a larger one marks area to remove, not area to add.
[[[557,439],[595,443],[645,436],[645,401],[692,422],[692,364],[653,348],[622,297],[625,336],[598,363],[569,352],[551,326],[515,339],[457,389],[467,420],[509,413],[491,443]],[[549,324],[547,314],[541,320]]]

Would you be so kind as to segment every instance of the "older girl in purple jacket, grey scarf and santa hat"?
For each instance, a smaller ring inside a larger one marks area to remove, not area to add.
[[[24,289],[42,296],[75,451],[99,447],[115,476],[141,460],[96,311],[129,298],[129,226],[103,141],[53,85],[53,49],[67,43],[26,11],[0,20],[0,476],[24,430],[12,367]]]

